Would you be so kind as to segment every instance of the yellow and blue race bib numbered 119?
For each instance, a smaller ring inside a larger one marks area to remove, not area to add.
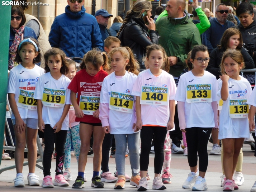
[[[51,89],[44,87],[42,103],[46,107],[64,107],[66,102],[65,89]]]

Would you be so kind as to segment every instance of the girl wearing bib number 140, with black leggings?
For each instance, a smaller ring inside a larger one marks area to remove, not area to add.
[[[163,166],[163,146],[167,131],[174,128],[176,85],[174,78],[161,69],[165,55],[165,50],[160,45],[147,47],[150,68],[139,73],[132,90],[132,95],[136,96],[136,130],[141,130],[141,180],[138,191],[148,189],[146,174],[153,134],[155,176],[152,188],[166,189],[158,175]]]

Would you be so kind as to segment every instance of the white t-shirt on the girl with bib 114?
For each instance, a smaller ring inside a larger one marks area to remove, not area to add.
[[[110,105],[110,97],[111,93],[118,92],[118,93],[126,93],[131,94],[134,82],[137,78],[137,75],[134,75],[131,72],[126,71],[125,75],[122,78],[116,78],[115,73],[111,73],[107,77],[104,78],[101,92],[100,92],[100,103],[108,103]],[[116,95],[116,94],[114,94]],[[122,105],[125,101],[128,101],[129,108],[133,108],[135,104],[135,96],[133,96],[133,101],[123,100]],[[114,99],[112,94],[112,99]],[[123,106],[120,107],[120,100],[116,99],[117,108],[126,110],[127,107]],[[112,105],[113,106],[113,105]],[[110,133],[111,134],[132,134],[134,133],[132,126],[135,120],[135,109],[131,109],[131,113],[122,112],[112,110],[110,106],[109,110],[109,126],[110,126]]]

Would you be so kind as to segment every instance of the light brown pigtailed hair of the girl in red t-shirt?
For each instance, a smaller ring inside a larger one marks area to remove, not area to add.
[[[102,52],[99,49],[93,48],[93,50],[88,51],[84,57],[83,61],[80,64],[80,69],[86,69],[86,63],[92,63],[93,67],[99,71],[100,66],[103,67],[104,70],[109,69],[109,64],[108,64],[108,56],[106,55],[105,52]]]

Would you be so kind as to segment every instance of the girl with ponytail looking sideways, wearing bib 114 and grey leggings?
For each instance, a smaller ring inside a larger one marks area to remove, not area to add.
[[[139,74],[139,64],[129,47],[114,48],[109,52],[114,73],[104,78],[100,115],[102,128],[106,134],[115,137],[115,164],[118,179],[114,189],[125,188],[125,151],[128,143],[132,169],[131,185],[138,186],[139,176],[139,132],[134,133],[135,99],[131,95],[134,82]]]

